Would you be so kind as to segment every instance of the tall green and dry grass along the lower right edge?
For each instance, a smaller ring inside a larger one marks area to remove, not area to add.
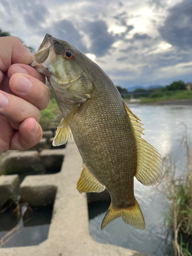
[[[176,165],[168,156],[164,162],[165,169],[161,181],[164,181],[163,190],[170,201],[165,222],[170,229],[174,230],[175,256],[191,256],[188,243],[184,244],[182,237],[185,236],[188,240],[192,238],[192,151],[190,136],[185,125],[184,127],[185,133],[180,143],[186,151],[183,175],[179,177],[176,175]]]

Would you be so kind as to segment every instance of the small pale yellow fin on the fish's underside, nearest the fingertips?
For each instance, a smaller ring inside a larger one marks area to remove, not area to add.
[[[60,146],[62,144],[66,144],[67,140],[69,142],[73,140],[73,135],[69,125],[65,128],[57,128],[56,135],[53,140],[53,146]]]

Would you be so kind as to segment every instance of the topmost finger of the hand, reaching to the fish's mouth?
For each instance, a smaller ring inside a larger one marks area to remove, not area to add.
[[[6,72],[14,63],[30,65],[33,54],[13,36],[0,37],[0,71]]]

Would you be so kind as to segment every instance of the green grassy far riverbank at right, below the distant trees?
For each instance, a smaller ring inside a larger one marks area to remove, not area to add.
[[[161,92],[158,92],[158,94],[156,95],[154,94],[154,97],[152,96],[153,94],[148,98],[141,98],[141,103],[160,102],[163,100],[192,99],[192,91],[187,91],[187,90],[164,91],[164,92],[161,91]]]

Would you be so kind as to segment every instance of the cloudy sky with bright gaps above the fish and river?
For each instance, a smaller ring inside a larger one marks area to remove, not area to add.
[[[68,41],[128,90],[192,82],[191,0],[0,0],[0,29]]]

